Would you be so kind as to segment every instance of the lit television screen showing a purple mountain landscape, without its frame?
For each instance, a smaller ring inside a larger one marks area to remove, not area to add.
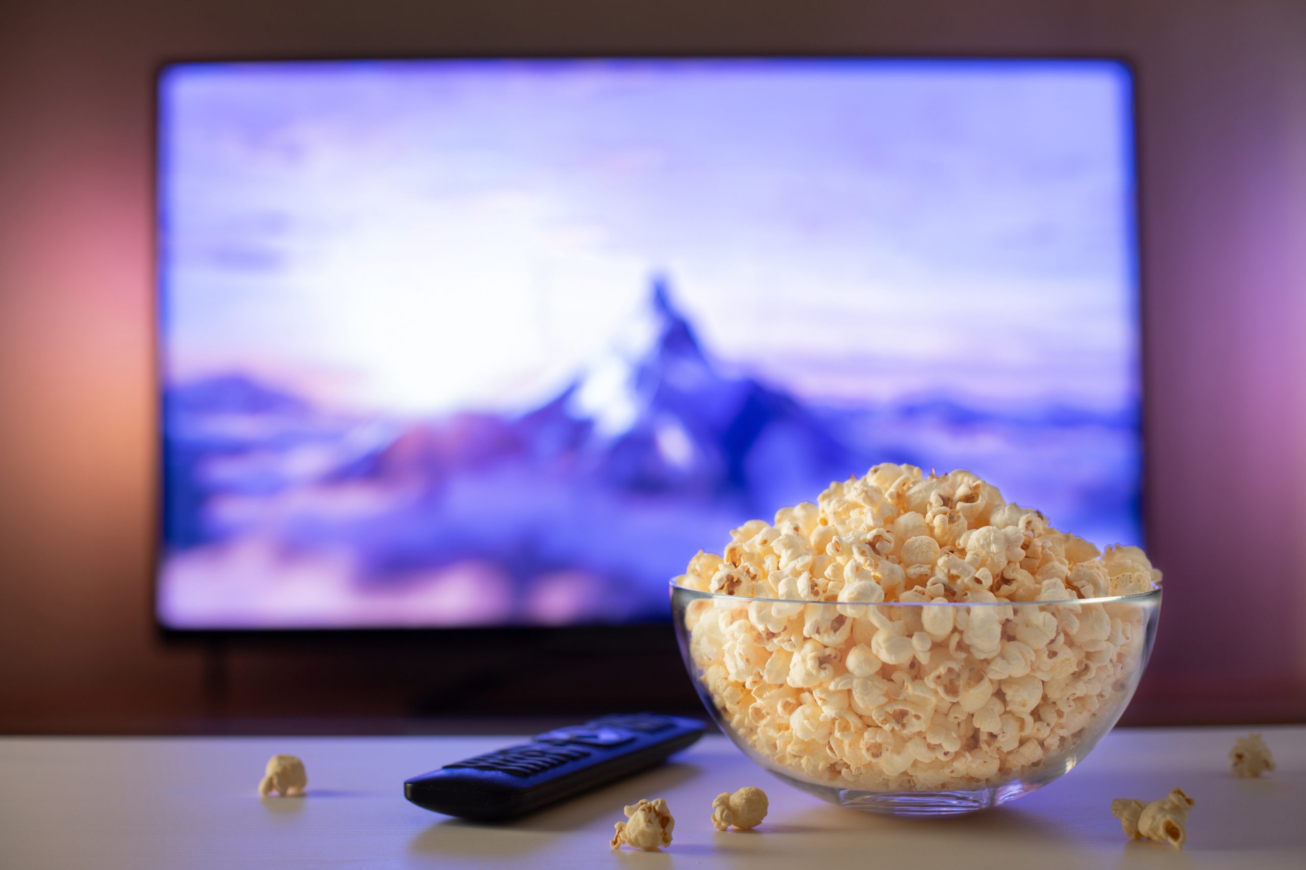
[[[1140,543],[1131,99],[1106,60],[166,68],[161,625],[662,620],[882,460]]]

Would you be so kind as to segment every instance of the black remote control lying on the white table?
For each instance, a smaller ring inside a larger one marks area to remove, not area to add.
[[[693,719],[603,716],[414,776],[404,783],[404,797],[465,819],[512,819],[653,767],[701,736],[703,723]]]

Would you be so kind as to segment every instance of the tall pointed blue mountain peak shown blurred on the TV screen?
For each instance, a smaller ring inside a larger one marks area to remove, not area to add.
[[[665,279],[653,282],[631,342],[524,415],[518,430],[535,455],[613,487],[733,496],[763,511],[790,484],[841,476],[854,460],[791,395],[720,373]]]

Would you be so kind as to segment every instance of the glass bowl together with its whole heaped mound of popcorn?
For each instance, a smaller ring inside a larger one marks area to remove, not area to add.
[[[883,463],[671,583],[686,667],[777,777],[899,815],[998,806],[1083,759],[1156,634],[1161,573],[968,471]]]

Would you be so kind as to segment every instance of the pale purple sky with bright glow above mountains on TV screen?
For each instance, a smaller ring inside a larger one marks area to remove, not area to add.
[[[1114,64],[197,65],[163,100],[174,380],[528,408],[666,274],[811,399],[1138,398]]]

